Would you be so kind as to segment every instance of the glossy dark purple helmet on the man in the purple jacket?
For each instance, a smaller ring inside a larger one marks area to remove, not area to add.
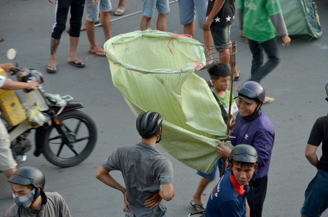
[[[247,81],[237,89],[238,96],[248,103],[261,102],[265,99],[265,90],[261,84],[256,81]]]

